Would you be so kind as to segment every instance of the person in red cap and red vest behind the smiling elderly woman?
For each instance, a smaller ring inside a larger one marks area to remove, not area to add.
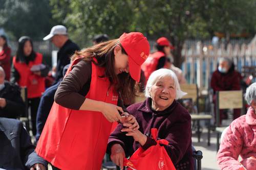
[[[146,82],[153,71],[159,68],[166,68],[165,64],[167,56],[170,54],[171,50],[175,49],[175,47],[172,46],[168,39],[165,37],[159,38],[155,46],[157,48],[157,52],[150,54],[146,62],[141,65],[141,69],[144,71]]]

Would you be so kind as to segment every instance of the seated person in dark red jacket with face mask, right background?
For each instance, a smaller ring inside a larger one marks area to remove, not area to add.
[[[240,82],[242,76],[239,72],[234,69],[233,62],[227,58],[220,58],[218,68],[212,73],[210,80],[210,87],[214,90],[213,102],[216,103],[216,91],[226,91],[226,90],[240,90]],[[214,106],[216,109],[216,106]],[[241,109],[233,109],[233,119],[240,117]],[[223,110],[220,110],[220,124],[222,119],[225,118],[223,115]],[[216,111],[215,111],[216,119]]]

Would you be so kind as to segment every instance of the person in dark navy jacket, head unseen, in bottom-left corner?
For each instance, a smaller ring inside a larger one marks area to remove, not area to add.
[[[23,124],[17,119],[0,117],[0,168],[46,170],[47,165],[36,154]]]

